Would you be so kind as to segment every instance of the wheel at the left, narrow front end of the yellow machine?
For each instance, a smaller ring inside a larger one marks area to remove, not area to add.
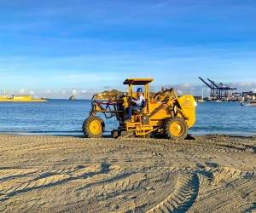
[[[82,130],[87,137],[102,137],[105,130],[105,124],[102,118],[91,116],[84,120]]]

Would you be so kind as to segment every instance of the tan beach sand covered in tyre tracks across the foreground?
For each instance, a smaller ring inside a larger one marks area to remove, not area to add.
[[[256,137],[0,135],[0,212],[256,212]]]

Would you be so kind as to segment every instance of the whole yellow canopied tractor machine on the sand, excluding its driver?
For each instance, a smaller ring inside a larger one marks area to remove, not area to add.
[[[119,95],[107,102],[91,101],[90,116],[84,120],[82,130],[87,137],[102,137],[105,124],[102,118],[96,116],[102,112],[105,118],[116,117],[119,127],[111,134],[117,138],[150,137],[163,135],[173,140],[183,140],[188,130],[195,124],[196,102],[193,95],[178,97],[175,90],[162,88],[150,96],[149,84],[154,78],[127,78],[123,84],[128,85],[128,94]],[[132,106],[132,99],[136,94],[134,86],[144,87],[145,98],[143,108],[135,109],[131,114],[131,122],[125,122],[127,107]],[[110,115],[109,115],[110,114]]]

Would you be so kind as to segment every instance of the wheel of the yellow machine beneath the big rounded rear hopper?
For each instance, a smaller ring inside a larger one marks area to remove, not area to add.
[[[165,135],[173,140],[183,140],[188,135],[188,124],[183,118],[173,117],[164,124]]]

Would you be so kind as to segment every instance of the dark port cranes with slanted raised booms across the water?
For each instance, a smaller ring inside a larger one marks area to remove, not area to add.
[[[198,77],[200,78],[200,77]],[[207,78],[210,83],[207,83],[204,79],[200,78],[203,83],[206,83],[207,86],[211,89],[210,100],[211,101],[222,101],[229,95],[229,90],[234,90],[236,88],[230,87],[224,83],[214,83],[212,80]]]

